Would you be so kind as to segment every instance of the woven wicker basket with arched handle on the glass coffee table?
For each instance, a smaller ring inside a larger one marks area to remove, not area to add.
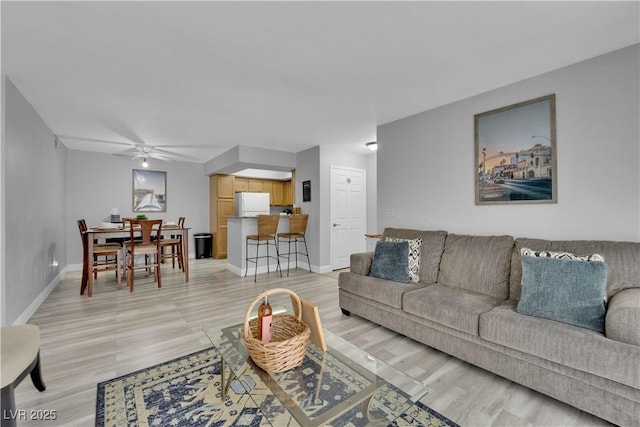
[[[249,320],[253,307],[264,299],[264,297],[276,293],[287,293],[296,301],[298,305],[298,316],[291,314],[274,314],[271,327],[271,342],[262,342],[255,338],[258,335],[258,319]],[[304,355],[309,344],[311,330],[302,323],[300,298],[295,292],[289,289],[275,288],[269,289],[258,295],[249,304],[247,313],[244,316],[244,328],[242,338],[247,346],[249,355],[256,365],[267,372],[284,372],[302,364]]]

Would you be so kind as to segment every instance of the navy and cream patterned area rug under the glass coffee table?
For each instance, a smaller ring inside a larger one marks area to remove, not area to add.
[[[224,402],[220,385],[220,358],[213,348],[114,378],[98,384],[96,426],[271,425],[246,393],[247,389],[267,396],[262,408],[268,408],[273,425],[299,425],[259,378],[244,375],[232,381]],[[400,390],[394,389],[385,397],[403,396]],[[371,425],[361,409],[356,405],[326,425]],[[418,402],[389,426],[454,427],[457,424]]]

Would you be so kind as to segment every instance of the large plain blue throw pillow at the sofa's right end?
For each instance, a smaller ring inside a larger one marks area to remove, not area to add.
[[[604,332],[606,263],[532,256],[521,259],[518,313]]]

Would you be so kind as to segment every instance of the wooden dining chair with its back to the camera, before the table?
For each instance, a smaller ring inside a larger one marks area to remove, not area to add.
[[[135,270],[146,270],[147,272],[154,270],[154,280],[161,287],[160,278],[160,236],[162,233],[162,220],[137,220],[130,218],[129,223],[129,242],[126,246],[126,277],[129,291],[133,292],[133,280]],[[140,240],[136,236],[141,234]],[[144,264],[136,264],[136,257],[144,256]]]

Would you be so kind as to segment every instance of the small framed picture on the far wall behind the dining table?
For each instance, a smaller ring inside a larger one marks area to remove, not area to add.
[[[167,211],[167,173],[133,170],[133,211]]]

